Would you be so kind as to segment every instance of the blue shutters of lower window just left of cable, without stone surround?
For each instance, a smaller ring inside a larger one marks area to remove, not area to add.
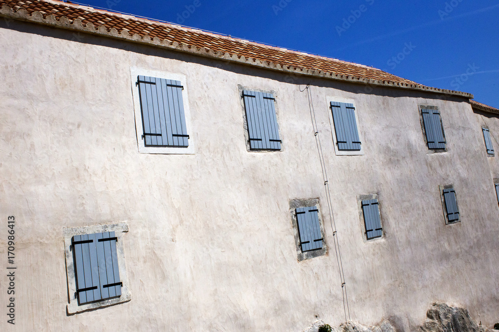
[[[295,213],[298,222],[301,251],[321,249],[324,239],[320,231],[317,207],[297,208]]]

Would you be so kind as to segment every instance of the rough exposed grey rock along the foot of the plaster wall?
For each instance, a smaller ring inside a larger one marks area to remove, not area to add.
[[[487,329],[478,326],[471,317],[468,310],[464,308],[449,307],[444,303],[434,303],[426,313],[427,319],[422,326],[417,327],[417,332],[494,332],[498,330]],[[321,325],[326,324],[322,320],[315,321],[303,332],[317,332]],[[389,321],[384,320],[380,325],[367,327],[355,322],[346,322],[333,332],[396,332]]]

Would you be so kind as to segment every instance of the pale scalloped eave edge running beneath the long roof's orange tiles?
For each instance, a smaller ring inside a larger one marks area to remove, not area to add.
[[[45,18],[43,18],[43,15],[37,11],[35,11],[35,12],[33,12],[33,14],[29,15],[27,13],[27,11],[23,8],[20,8],[16,11],[13,11],[7,5],[1,6],[0,16],[4,16],[7,18],[16,19],[16,20],[27,21],[27,22],[34,22],[34,23],[38,23],[38,24],[43,24],[43,25],[48,25],[48,26],[53,26],[53,27],[58,27],[58,28],[63,28],[63,29],[68,29],[68,30],[72,30],[72,31],[81,31],[84,33],[90,33],[90,34],[94,34],[94,35],[100,35],[100,36],[105,36],[105,37],[110,37],[110,38],[115,38],[115,39],[121,39],[121,40],[131,41],[131,42],[135,42],[135,43],[145,44],[145,45],[152,45],[152,46],[160,47],[160,48],[164,48],[164,49],[186,52],[186,53],[196,54],[196,55],[203,56],[203,57],[218,59],[221,61],[246,64],[246,65],[250,65],[250,66],[256,66],[256,67],[261,67],[261,68],[265,68],[265,69],[276,70],[276,71],[285,72],[285,73],[294,74],[294,75],[297,74],[297,75],[320,77],[320,78],[326,78],[326,79],[332,79],[332,80],[344,81],[344,82],[349,82],[349,83],[354,83],[354,84],[362,84],[362,85],[392,87],[392,88],[407,89],[407,90],[419,90],[419,91],[437,93],[437,94],[445,95],[448,97],[459,96],[459,97],[464,97],[464,98],[468,98],[468,99],[474,98],[472,94],[469,94],[466,92],[460,92],[460,91],[438,89],[438,88],[426,87],[426,86],[416,85],[416,84],[396,83],[396,82],[389,81],[389,80],[373,80],[373,79],[367,79],[367,78],[363,78],[363,77],[339,75],[339,74],[335,74],[335,73],[331,73],[331,72],[317,71],[317,70],[311,70],[311,69],[306,69],[306,68],[298,68],[298,67],[292,68],[292,67],[282,66],[282,65],[275,64],[275,63],[268,62],[268,61],[261,61],[261,60],[256,59],[256,58],[246,58],[244,56],[238,57],[237,55],[231,55],[229,53],[224,53],[224,52],[217,52],[217,51],[213,51],[213,50],[207,49],[207,48],[190,46],[190,45],[187,45],[185,43],[179,44],[175,41],[170,42],[167,39],[161,40],[160,38],[157,38],[157,37],[155,37],[154,39],[151,39],[147,35],[144,37],[141,37],[138,34],[130,35],[128,33],[128,31],[126,31],[126,30],[124,30],[120,33],[115,28],[111,28],[109,30],[106,29],[104,26],[100,26],[98,28],[95,28],[95,26],[92,23],[87,23],[86,25],[83,25],[81,20],[79,20],[79,19],[75,19],[71,23],[65,16],[63,16],[61,19],[57,20],[55,15],[53,15],[53,14],[49,14]],[[146,21],[146,20],[144,20],[144,21]]]

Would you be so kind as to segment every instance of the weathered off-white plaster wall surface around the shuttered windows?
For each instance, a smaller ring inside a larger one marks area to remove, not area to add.
[[[299,92],[308,78],[19,22],[0,23],[0,53],[1,257],[7,216],[17,222],[9,329],[300,331],[316,316],[344,321],[334,251],[298,262],[289,217],[289,200],[318,197],[333,248]],[[138,153],[130,67],[187,76],[195,154]],[[280,152],[247,151],[238,85],[275,91]],[[408,330],[440,301],[495,323],[495,158],[484,154],[470,105],[326,80],[311,86],[351,318],[387,317]],[[326,96],[355,101],[364,155],[335,155]],[[440,108],[448,152],[429,153],[418,104]],[[443,221],[439,185],[447,183],[458,193],[458,224]],[[384,238],[366,242],[357,196],[370,193]],[[132,300],[67,316],[62,228],[119,221],[129,226]]]

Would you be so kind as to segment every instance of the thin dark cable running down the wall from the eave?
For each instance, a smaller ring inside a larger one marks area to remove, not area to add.
[[[329,182],[327,179],[326,164],[324,162],[324,154],[322,152],[322,145],[320,143],[319,130],[317,128],[317,122],[315,120],[315,109],[313,107],[313,99],[312,99],[312,93],[310,91],[310,83],[307,84],[307,86],[304,90],[300,89],[300,92],[304,92],[305,90],[307,91],[308,107],[310,109],[310,119],[312,120],[312,127],[313,127],[314,136],[315,136],[315,143],[317,145],[317,151],[319,153],[320,167],[322,168],[322,178],[324,179],[324,190],[326,192],[327,207],[329,210],[329,223],[330,223],[331,229],[333,231],[334,250],[336,251],[336,261],[338,263],[338,270],[339,270],[340,281],[341,281],[341,293],[343,296],[343,310],[345,312],[345,320],[349,321],[350,320],[350,308],[348,306],[348,295],[347,295],[347,290],[346,290],[345,274],[343,272],[343,262],[341,260],[341,251],[340,251],[340,245],[339,245],[339,241],[338,241],[338,234],[336,231],[336,222],[334,221],[334,214],[332,212],[331,191],[329,190]],[[347,319],[347,313],[348,313],[348,319]]]

